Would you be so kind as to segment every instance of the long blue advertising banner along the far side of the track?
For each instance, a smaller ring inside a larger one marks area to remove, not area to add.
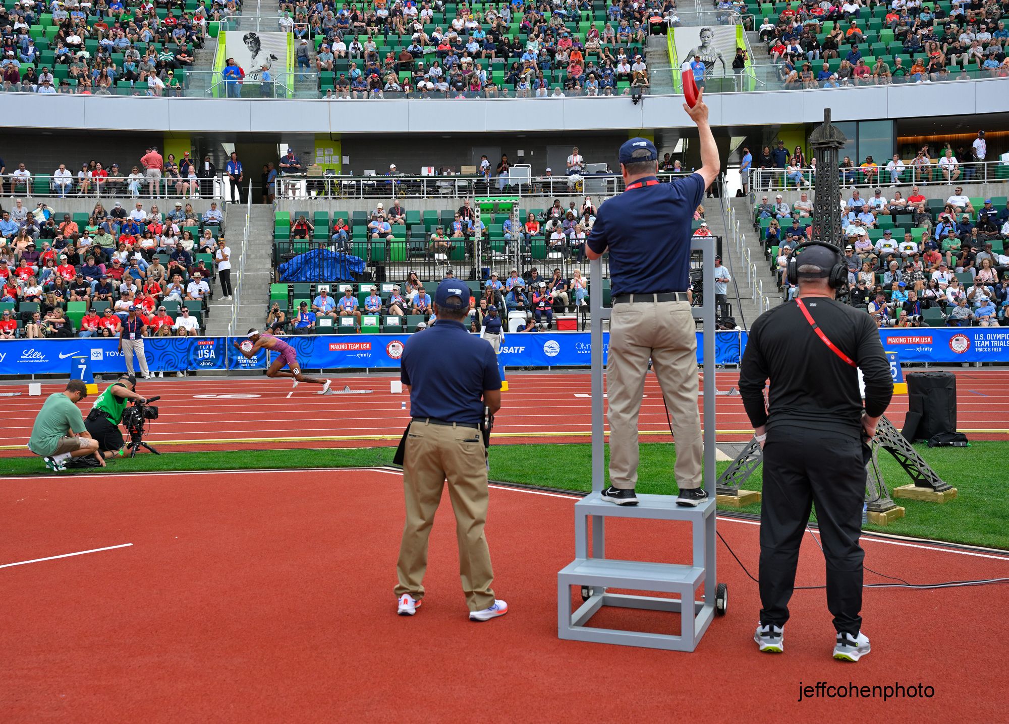
[[[424,334],[421,332],[420,334]],[[923,327],[880,330],[883,348],[901,362],[1009,362],[1009,328]],[[398,368],[410,335],[314,335],[286,337],[306,369]],[[144,339],[147,364],[153,371],[265,369],[276,358],[260,351],[249,360],[234,349],[243,337],[151,337]],[[591,347],[587,332],[509,334],[500,347],[507,367],[587,367]],[[603,361],[609,336],[603,335]],[[739,364],[746,332],[718,332],[715,362]],[[0,341],[0,375],[70,374],[73,357],[85,356],[95,374],[126,369],[119,340],[99,337],[69,340]],[[697,333],[697,361],[703,345]]]

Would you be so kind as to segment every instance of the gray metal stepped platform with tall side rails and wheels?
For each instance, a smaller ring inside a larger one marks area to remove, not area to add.
[[[672,495],[639,494],[638,505],[615,505],[600,496],[605,480],[602,405],[601,263],[590,269],[589,303],[592,316],[592,492],[574,504],[575,560],[557,574],[557,635],[595,643],[692,651],[715,614],[715,500],[714,500],[714,240],[696,238],[691,248],[704,257],[703,306],[694,317],[704,322],[704,489],[709,498],[696,507],[680,506]],[[672,473],[672,471],[670,471]],[[618,561],[605,557],[605,518],[685,521],[691,525],[691,565]],[[591,540],[591,547],[589,541]],[[590,550],[591,549],[591,550]],[[697,591],[703,595],[697,600]],[[584,603],[571,610],[571,588],[584,592]],[[673,594],[674,598],[610,593],[615,588]],[[680,614],[680,634],[626,631],[588,625],[603,606],[666,611]]]

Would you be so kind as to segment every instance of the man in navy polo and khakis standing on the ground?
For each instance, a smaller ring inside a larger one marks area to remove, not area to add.
[[[428,536],[447,479],[469,619],[487,621],[508,613],[508,604],[495,599],[490,588],[493,571],[483,535],[488,493],[481,430],[484,406],[491,415],[500,408],[500,376],[491,346],[463,326],[469,287],[458,279],[444,279],[435,292],[434,309],[438,321],[411,336],[401,361],[400,378],[410,391],[413,420],[405,436],[407,522],[397,565],[398,613],[413,616],[424,598]]]

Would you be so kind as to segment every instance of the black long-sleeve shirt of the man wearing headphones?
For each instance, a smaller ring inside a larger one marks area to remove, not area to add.
[[[872,318],[824,296],[804,301],[827,339],[862,370],[866,412],[874,417],[883,414],[893,395],[893,379]],[[765,408],[764,385],[769,377]],[[754,428],[787,425],[861,436],[858,371],[823,344],[794,301],[764,313],[751,328],[740,394]]]

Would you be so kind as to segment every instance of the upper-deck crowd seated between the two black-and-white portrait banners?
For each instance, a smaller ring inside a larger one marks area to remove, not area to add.
[[[320,88],[338,99],[629,94],[650,86],[647,35],[678,22],[672,0],[281,7],[299,71],[313,42]]]

